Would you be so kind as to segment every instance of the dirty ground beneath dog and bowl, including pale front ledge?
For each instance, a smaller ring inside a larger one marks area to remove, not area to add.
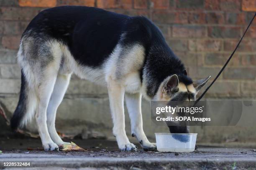
[[[4,162],[29,162],[29,169],[256,169],[253,149],[204,148],[192,153],[120,152],[115,141],[72,140],[86,152],[41,151],[38,139],[0,139]],[[14,167],[11,167],[15,169]],[[24,167],[23,167],[24,168]],[[28,167],[27,167],[28,168]]]

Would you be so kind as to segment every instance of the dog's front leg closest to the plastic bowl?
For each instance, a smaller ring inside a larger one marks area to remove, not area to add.
[[[156,150],[156,145],[148,141],[143,131],[143,122],[141,114],[141,93],[126,93],[125,101],[131,119],[132,135],[137,138],[138,142],[141,144],[141,147],[144,150]]]

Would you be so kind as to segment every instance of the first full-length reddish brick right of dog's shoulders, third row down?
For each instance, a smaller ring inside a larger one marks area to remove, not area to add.
[[[206,28],[203,26],[174,25],[172,28],[173,37],[205,37]]]

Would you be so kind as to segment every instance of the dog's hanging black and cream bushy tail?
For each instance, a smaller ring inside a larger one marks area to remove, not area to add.
[[[11,119],[11,128],[17,130],[31,120],[36,110],[35,90],[28,84],[23,69],[21,70],[21,87],[18,105]]]

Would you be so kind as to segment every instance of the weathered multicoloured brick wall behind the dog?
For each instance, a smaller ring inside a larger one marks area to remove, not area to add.
[[[37,13],[59,5],[87,5],[150,18],[193,78],[215,77],[256,11],[256,0],[0,0],[0,100],[10,112],[20,88],[20,68],[15,59],[20,36]],[[256,98],[256,20],[207,97]],[[106,89],[73,77],[60,110],[82,112],[84,102],[88,107],[106,105],[106,110],[107,98]],[[74,108],[67,109],[67,105]],[[69,119],[67,115],[59,117]]]

